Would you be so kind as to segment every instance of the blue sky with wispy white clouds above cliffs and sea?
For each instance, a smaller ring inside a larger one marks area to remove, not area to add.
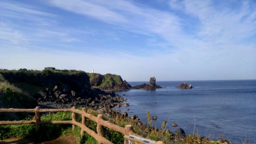
[[[0,0],[0,69],[256,79],[256,0]]]

